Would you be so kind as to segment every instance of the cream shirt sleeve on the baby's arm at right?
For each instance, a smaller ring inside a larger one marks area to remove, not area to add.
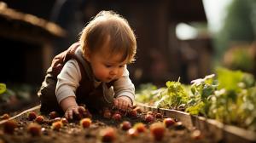
[[[134,84],[131,82],[126,66],[123,76],[113,83],[113,91],[115,93],[115,97],[127,96],[130,98],[131,103],[134,102],[135,88]]]

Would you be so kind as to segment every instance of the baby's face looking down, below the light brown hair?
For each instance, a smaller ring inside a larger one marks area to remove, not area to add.
[[[108,49],[90,54],[89,58],[94,76],[104,83],[109,83],[123,75],[127,61],[121,60],[121,54],[109,54]]]

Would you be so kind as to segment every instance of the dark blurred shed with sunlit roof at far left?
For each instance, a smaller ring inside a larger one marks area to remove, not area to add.
[[[52,22],[0,3],[0,83],[39,84],[65,31]]]

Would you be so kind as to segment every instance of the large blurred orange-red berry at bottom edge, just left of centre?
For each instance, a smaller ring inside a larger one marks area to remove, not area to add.
[[[102,142],[112,142],[116,138],[115,130],[111,127],[102,129],[100,135],[102,137]]]

